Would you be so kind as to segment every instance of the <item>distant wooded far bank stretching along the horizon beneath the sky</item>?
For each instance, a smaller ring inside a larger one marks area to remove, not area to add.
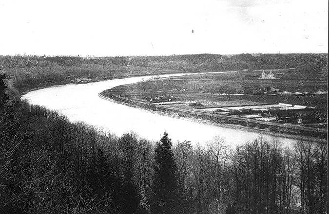
[[[16,89],[74,78],[125,75],[297,68],[328,76],[328,54],[193,54],[171,56],[75,57],[0,56],[0,69]]]

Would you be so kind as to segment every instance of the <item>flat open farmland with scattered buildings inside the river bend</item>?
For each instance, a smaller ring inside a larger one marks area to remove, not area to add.
[[[321,73],[317,75],[301,73],[299,75],[298,70],[284,71],[273,70],[274,74],[279,73],[276,75],[282,76],[281,79],[275,80],[259,79],[258,76],[262,71],[237,71],[232,73],[206,73],[193,76],[168,77],[118,86],[107,90],[106,94],[114,94],[145,104],[155,102],[151,102],[151,100],[154,100],[156,97],[172,97],[174,102],[160,101],[159,104],[164,107],[181,109],[182,111],[212,112],[213,114],[249,118],[253,121],[271,121],[271,124],[274,126],[275,124],[290,124],[297,125],[296,127],[301,127],[301,129],[302,127],[326,129],[328,125],[327,79],[322,78]],[[243,94],[245,89],[250,87],[272,87],[279,89],[279,91],[297,91],[304,94],[291,95],[280,92],[271,95]],[[231,89],[231,91],[240,92],[240,94],[218,95],[212,93],[222,92],[219,91],[220,89]],[[278,103],[290,104],[292,107],[268,107],[269,104]],[[252,110],[244,106],[259,107]],[[298,106],[303,107],[298,108]],[[223,109],[220,107],[237,108],[232,108],[229,112],[223,112]],[[209,110],[204,111],[202,110],[203,108]]]

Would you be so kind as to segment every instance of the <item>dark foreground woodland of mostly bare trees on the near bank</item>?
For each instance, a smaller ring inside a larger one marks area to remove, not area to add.
[[[231,148],[215,137],[173,146],[167,133],[154,143],[71,123],[2,92],[2,213],[326,213],[325,144],[285,149],[259,138]]]

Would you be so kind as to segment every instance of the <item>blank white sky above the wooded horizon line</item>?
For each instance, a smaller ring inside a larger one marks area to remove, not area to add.
[[[328,0],[1,0],[0,55],[328,53]]]

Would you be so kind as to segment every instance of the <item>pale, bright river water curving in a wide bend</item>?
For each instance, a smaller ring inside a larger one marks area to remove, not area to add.
[[[181,75],[186,74],[165,74],[160,75],[160,77]],[[98,93],[105,89],[154,77],[129,77],[88,84],[54,86],[31,91],[22,96],[22,99],[27,99],[31,104],[57,110],[59,113],[66,115],[72,122],[82,121],[86,124],[116,133],[118,136],[125,131],[135,131],[140,137],[159,141],[163,133],[167,132],[168,137],[174,143],[189,140],[194,144],[204,144],[210,141],[215,135],[224,137],[232,145],[252,141],[259,136],[270,141],[278,140],[284,144],[290,144],[295,141],[237,128],[226,128],[165,116],[159,113],[117,104],[98,97]]]

